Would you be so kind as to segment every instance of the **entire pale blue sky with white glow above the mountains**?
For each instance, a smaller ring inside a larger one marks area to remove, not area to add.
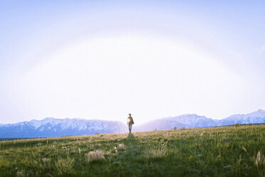
[[[0,123],[265,109],[265,1],[0,1]]]

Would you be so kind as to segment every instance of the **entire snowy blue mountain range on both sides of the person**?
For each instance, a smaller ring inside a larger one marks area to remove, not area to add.
[[[235,123],[265,123],[265,111],[259,109],[253,113],[235,114],[220,120],[198,116],[197,114],[184,114],[155,119],[140,126],[134,125],[133,131],[229,126]],[[120,121],[85,120],[80,118],[44,118],[41,121],[32,120],[0,124],[0,138],[75,136],[126,131],[128,131],[127,126]]]

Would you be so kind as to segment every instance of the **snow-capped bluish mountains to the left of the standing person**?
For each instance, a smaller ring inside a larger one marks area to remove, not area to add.
[[[0,138],[33,138],[74,136],[94,133],[118,133],[126,131],[119,121],[84,120],[78,118],[44,118],[0,125]]]

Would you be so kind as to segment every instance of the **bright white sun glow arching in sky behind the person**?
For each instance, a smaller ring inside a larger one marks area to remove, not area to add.
[[[125,121],[132,113],[137,123],[207,112],[237,96],[234,91],[242,86],[216,56],[152,36],[76,41],[17,82],[21,88],[16,93],[23,97],[18,104],[32,111],[31,117]]]

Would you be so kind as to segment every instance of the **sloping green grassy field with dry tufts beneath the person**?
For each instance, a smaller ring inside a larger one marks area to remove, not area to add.
[[[0,142],[0,176],[265,176],[265,125]]]

